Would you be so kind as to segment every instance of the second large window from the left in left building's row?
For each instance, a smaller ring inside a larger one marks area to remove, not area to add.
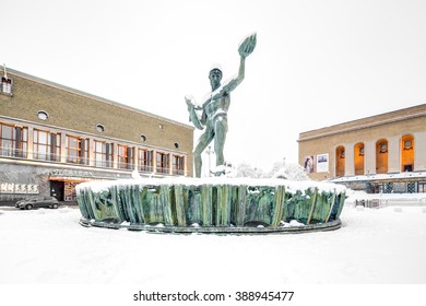
[[[34,130],[33,158],[60,161],[61,136],[55,132]]]

